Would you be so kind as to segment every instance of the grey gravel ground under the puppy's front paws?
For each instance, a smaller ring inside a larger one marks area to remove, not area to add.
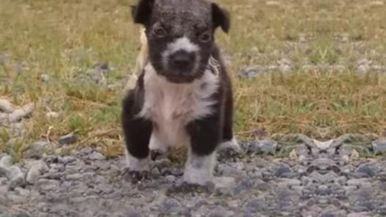
[[[124,157],[91,148],[12,164],[0,155],[1,217],[381,217],[386,216],[386,160],[365,159],[348,137],[296,145],[241,142],[220,147],[215,186],[186,186],[183,168],[152,163],[151,177],[132,184]],[[375,141],[370,151],[383,151]],[[285,158],[269,153],[288,149]],[[292,151],[291,151],[292,150]],[[233,177],[233,178],[226,178]]]

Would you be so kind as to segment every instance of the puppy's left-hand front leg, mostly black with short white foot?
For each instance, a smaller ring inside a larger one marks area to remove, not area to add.
[[[126,161],[133,182],[149,171],[149,140],[152,123],[137,114],[142,105],[131,90],[123,101],[122,125],[126,139]]]

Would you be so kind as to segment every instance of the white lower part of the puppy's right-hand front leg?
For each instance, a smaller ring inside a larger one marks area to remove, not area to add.
[[[208,181],[213,181],[215,156],[215,151],[210,155],[197,156],[189,148],[183,177],[184,181],[198,185],[205,185]]]

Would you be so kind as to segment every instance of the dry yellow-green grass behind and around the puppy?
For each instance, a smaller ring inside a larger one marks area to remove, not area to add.
[[[135,2],[2,0],[0,97],[35,103],[25,123],[26,144],[74,132],[80,142],[71,148],[98,146],[112,156],[122,151],[119,84],[134,69],[140,48],[139,26],[130,17]],[[218,2],[232,14],[232,31],[218,31],[217,39],[233,78],[237,136],[328,139],[386,130],[386,71],[357,72],[362,59],[386,66],[386,2]],[[246,66],[277,66],[283,59],[291,73],[239,77]],[[101,63],[112,68],[108,85],[80,79]],[[59,117],[47,117],[51,111]],[[7,140],[0,139],[0,152]]]

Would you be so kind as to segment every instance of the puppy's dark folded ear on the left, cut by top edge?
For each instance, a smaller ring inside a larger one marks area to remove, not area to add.
[[[134,23],[146,25],[151,16],[154,0],[141,0],[138,5],[131,7]]]

